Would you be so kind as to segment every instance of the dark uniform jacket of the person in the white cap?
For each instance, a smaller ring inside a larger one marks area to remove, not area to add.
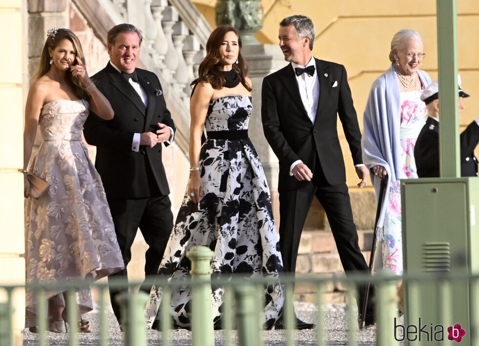
[[[479,143],[479,125],[473,121],[459,136],[461,176],[476,176],[478,160],[474,149]],[[420,178],[439,176],[439,122],[426,120],[414,146],[414,160]]]

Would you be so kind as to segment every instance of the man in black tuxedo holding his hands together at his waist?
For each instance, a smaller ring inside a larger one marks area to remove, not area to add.
[[[104,121],[90,115],[84,130],[87,142],[97,147],[95,167],[102,177],[125,262],[125,269],[114,274],[115,278],[127,278],[138,227],[149,245],[145,275],[156,275],[173,228],[161,144],[171,143],[175,128],[158,77],[136,68],[142,39],[141,31],[131,24],[116,25],[108,32],[110,61],[92,79],[109,100],[115,117]],[[119,292],[110,288],[111,305],[121,327],[115,300]]]

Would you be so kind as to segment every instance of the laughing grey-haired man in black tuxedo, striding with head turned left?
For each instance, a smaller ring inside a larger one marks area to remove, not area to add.
[[[361,182],[369,175],[362,164],[361,132],[343,65],[312,56],[315,33],[308,17],[280,23],[279,40],[290,64],[265,77],[261,118],[269,145],[279,159],[280,246],[284,270],[294,275],[301,233],[314,196],[325,209],[345,271],[367,271],[359,249],[346,172],[337,133],[343,125]],[[359,290],[362,302],[364,289]],[[371,302],[371,300],[370,300]],[[361,311],[362,303],[358,303]],[[367,324],[372,324],[372,303]],[[297,319],[298,328],[311,328]]]

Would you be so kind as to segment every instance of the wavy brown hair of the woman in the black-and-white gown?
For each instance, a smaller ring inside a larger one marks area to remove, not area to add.
[[[211,33],[208,41],[206,42],[206,57],[204,57],[199,64],[198,78],[191,83],[191,86],[195,86],[198,83],[209,83],[214,89],[221,89],[223,86],[225,86],[226,81],[218,68],[221,59],[219,55],[219,47],[224,40],[224,36],[230,31],[233,31],[236,36],[238,36],[238,45],[240,47],[240,51],[238,52],[238,64],[233,64],[233,69],[240,77],[241,84],[248,91],[252,90],[252,87],[246,82],[248,64],[241,55],[242,44],[240,32],[234,26],[229,24],[219,25]]]

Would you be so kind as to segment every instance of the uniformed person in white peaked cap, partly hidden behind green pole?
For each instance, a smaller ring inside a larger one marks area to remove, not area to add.
[[[463,99],[469,97],[459,85],[459,109],[464,109]],[[439,84],[434,81],[421,94],[421,100],[426,103],[429,117],[417,137],[414,146],[414,160],[417,175],[420,178],[439,176]],[[479,143],[479,116],[459,136],[461,176],[478,175],[478,159],[474,156],[474,149]]]

